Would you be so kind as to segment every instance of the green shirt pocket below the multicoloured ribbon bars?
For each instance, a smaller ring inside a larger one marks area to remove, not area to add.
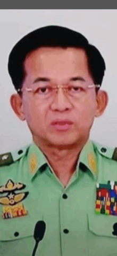
[[[88,255],[116,256],[117,236],[113,235],[116,216],[88,214]]]

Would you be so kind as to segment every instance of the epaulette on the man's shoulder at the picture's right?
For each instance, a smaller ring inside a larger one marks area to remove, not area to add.
[[[94,143],[94,146],[96,146],[98,152],[102,154],[102,156],[111,158],[112,160],[117,161],[117,148],[101,145],[101,144],[98,144],[97,142],[93,142],[93,143]]]

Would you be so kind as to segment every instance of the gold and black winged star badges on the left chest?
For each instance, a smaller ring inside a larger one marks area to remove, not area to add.
[[[0,194],[7,192],[6,196],[0,197],[0,204],[4,205],[2,212],[3,219],[27,215],[28,211],[20,202],[28,196],[29,192],[15,193],[16,190],[22,190],[24,188],[26,188],[26,185],[14,183],[12,180],[8,180],[5,185],[0,187]]]

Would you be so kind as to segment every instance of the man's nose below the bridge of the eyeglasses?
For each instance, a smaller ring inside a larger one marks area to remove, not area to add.
[[[71,110],[72,104],[69,100],[68,95],[66,95],[66,92],[61,87],[57,89],[56,94],[54,95],[54,99],[51,103],[51,109],[53,111],[65,111],[65,110]]]

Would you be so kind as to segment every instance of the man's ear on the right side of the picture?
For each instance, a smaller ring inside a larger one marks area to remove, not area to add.
[[[98,90],[98,93],[96,95],[96,112],[95,112],[95,117],[100,117],[107,106],[108,103],[108,95],[106,91],[103,90]]]

